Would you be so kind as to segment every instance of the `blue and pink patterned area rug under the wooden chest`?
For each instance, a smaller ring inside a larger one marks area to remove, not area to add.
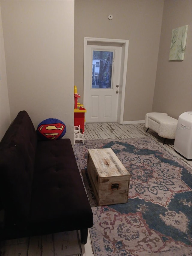
[[[97,206],[87,150],[112,148],[132,174],[128,203]],[[77,164],[94,214],[95,256],[191,256],[191,168],[149,138],[76,143]]]

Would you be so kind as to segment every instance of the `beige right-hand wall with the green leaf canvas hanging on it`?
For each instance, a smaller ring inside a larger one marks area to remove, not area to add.
[[[188,25],[184,60],[169,61],[172,29]],[[178,119],[191,111],[191,1],[165,1],[153,112]]]

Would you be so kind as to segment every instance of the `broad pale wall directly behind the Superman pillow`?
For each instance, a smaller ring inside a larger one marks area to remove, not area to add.
[[[11,121],[66,124],[73,143],[74,1],[1,1]]]

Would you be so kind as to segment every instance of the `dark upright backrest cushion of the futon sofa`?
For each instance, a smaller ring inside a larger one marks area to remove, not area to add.
[[[9,222],[29,215],[37,135],[26,111],[20,111],[0,143],[0,197]]]

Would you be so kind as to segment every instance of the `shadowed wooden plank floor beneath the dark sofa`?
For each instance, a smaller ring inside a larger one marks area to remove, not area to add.
[[[91,250],[92,251],[92,250]],[[81,256],[77,231],[24,237],[1,242],[1,256]],[[86,254],[84,254],[86,256]]]

